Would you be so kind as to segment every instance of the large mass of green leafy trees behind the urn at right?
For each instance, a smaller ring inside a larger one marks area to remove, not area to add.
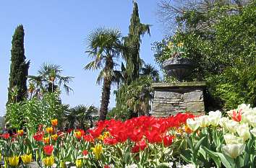
[[[183,26],[176,39],[187,48],[195,63],[194,80],[206,80],[212,104],[231,109],[242,102],[256,105],[256,10],[255,2],[244,6],[214,2],[184,12],[176,21]],[[167,41],[168,42],[168,41]],[[155,60],[166,60],[167,42],[155,43]]]

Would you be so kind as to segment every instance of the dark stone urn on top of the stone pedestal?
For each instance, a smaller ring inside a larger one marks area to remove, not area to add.
[[[170,76],[174,76],[178,81],[182,81],[185,77],[192,74],[193,64],[189,58],[182,58],[181,55],[176,56],[163,62],[165,69]]]

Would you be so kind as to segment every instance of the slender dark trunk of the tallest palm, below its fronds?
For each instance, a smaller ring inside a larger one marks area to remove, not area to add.
[[[111,81],[108,81],[106,78],[103,79],[103,87],[101,94],[101,110],[99,120],[106,120],[106,115],[108,113],[108,104],[110,99],[111,91]]]

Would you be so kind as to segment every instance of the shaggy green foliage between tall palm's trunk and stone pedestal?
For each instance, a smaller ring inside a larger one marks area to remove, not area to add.
[[[109,112],[108,118],[127,120],[137,115],[148,115],[153,99],[152,82],[151,76],[142,76],[129,85],[121,85],[115,92],[116,107]]]

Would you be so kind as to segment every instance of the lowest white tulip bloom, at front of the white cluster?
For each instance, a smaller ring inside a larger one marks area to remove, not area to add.
[[[227,144],[222,147],[223,153],[231,156],[231,158],[236,159],[237,156],[242,154],[245,149],[244,143],[237,144]]]

